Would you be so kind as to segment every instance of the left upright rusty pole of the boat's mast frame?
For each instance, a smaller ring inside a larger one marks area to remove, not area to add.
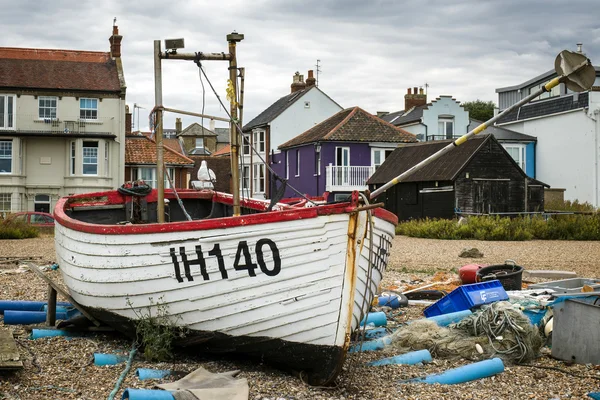
[[[154,41],[154,103],[156,107],[162,106],[162,66],[160,60],[160,40]],[[155,109],[156,133],[156,188],[158,199],[156,200],[156,217],[158,223],[165,222],[165,178],[163,169],[163,121],[162,109]]]

